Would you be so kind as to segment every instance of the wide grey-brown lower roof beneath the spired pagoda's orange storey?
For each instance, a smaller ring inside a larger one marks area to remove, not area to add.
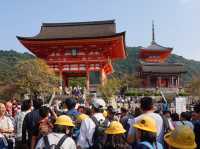
[[[179,63],[143,63],[141,71],[146,73],[185,73],[183,64]]]

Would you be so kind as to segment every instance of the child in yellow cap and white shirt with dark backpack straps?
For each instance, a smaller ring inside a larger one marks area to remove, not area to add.
[[[35,149],[43,149],[45,147],[60,147],[61,149],[76,149],[74,140],[68,136],[70,127],[74,127],[71,118],[66,115],[61,115],[56,118],[53,132],[46,137],[42,137]]]

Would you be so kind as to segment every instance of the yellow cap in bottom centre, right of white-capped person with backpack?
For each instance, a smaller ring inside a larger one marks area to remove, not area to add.
[[[106,134],[121,134],[125,132],[126,130],[123,128],[122,124],[118,121],[112,121],[109,127],[105,130]]]

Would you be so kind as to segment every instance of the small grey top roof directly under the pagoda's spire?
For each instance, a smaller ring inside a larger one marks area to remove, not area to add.
[[[166,51],[166,50],[172,51],[172,49],[173,48],[161,46],[154,41],[151,42],[151,45],[149,45],[148,47],[141,48],[141,50],[152,50],[152,51]]]

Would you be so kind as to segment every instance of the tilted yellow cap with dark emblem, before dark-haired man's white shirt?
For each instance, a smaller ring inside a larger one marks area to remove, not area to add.
[[[149,132],[157,132],[156,121],[152,117],[147,115],[142,116],[141,119],[133,125],[133,127]]]

